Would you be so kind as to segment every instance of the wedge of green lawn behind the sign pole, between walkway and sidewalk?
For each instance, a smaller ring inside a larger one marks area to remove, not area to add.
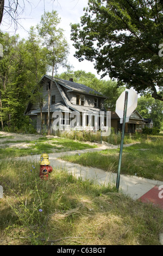
[[[147,140],[123,148],[121,173],[163,181],[162,152],[162,138],[154,141]],[[79,163],[83,166],[117,172],[119,153],[120,149],[110,149],[101,152],[62,156],[61,159]]]

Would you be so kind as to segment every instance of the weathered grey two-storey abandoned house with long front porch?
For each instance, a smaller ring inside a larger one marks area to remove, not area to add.
[[[51,76],[44,75],[41,78],[40,84],[42,88],[42,124],[43,129],[46,129],[48,123],[48,87],[50,86]],[[102,125],[106,125],[106,111],[104,109],[104,100],[106,97],[92,88],[70,81],[62,80],[60,78],[53,78],[53,85],[51,88],[51,133],[59,127],[62,130],[70,128],[73,114],[75,113],[76,123],[73,127],[78,130],[89,127],[91,130],[97,130]],[[100,118],[100,112],[103,118]],[[40,115],[39,101],[35,103],[28,103],[24,114],[29,115],[32,123],[35,125],[37,132],[41,131],[41,115]],[[59,114],[60,113],[60,114]],[[59,117],[59,119],[58,119]],[[101,122],[101,124],[100,124]],[[54,125],[55,123],[55,125]]]

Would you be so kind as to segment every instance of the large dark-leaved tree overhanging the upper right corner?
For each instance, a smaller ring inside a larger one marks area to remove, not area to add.
[[[81,24],[71,25],[75,57],[137,93],[163,101],[161,0],[89,0]],[[159,88],[159,92],[156,88]]]

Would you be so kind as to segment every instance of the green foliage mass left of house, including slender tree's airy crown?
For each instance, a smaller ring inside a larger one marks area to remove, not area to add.
[[[29,100],[31,103],[38,100],[41,110],[41,77],[50,67],[58,70],[59,65],[66,62],[68,45],[63,30],[57,29],[59,22],[56,11],[45,13],[37,30],[30,28],[27,40],[20,40],[18,35],[10,36],[0,31],[0,44],[3,45],[3,58],[0,58],[2,130],[31,130],[29,117],[24,116]]]

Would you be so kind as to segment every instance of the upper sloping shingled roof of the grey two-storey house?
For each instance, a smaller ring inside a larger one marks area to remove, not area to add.
[[[44,75],[43,77],[46,77],[48,79],[52,79],[52,76]],[[42,78],[43,78],[42,77]],[[41,80],[42,80],[41,78]],[[68,80],[63,80],[61,78],[53,77],[53,81],[57,82],[61,86],[64,86],[65,88],[69,89],[70,91],[75,91],[78,93],[85,93],[85,94],[91,94],[91,95],[96,95],[96,96],[101,96],[106,98],[102,93],[97,92],[96,90],[93,90],[90,87],[85,86],[84,84],[81,83],[76,83]]]

